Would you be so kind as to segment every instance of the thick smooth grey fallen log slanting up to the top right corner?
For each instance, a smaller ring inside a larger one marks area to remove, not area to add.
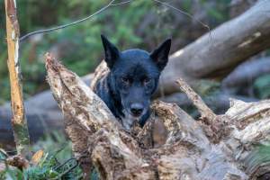
[[[269,1],[258,1],[244,14],[221,24],[171,55],[160,80],[160,91],[175,93],[179,77],[196,84],[202,78],[221,79],[242,61],[270,47]],[[161,89],[162,88],[162,89]]]

